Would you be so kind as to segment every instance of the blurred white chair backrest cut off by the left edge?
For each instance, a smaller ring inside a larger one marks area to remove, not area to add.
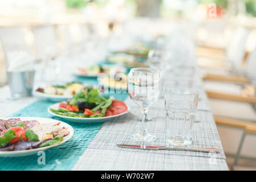
[[[25,32],[22,27],[1,27],[0,40],[7,59],[7,52],[26,51],[30,53],[30,48],[25,40]]]

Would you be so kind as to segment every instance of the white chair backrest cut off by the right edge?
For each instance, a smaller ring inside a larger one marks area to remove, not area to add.
[[[250,77],[252,80],[256,80],[256,47],[248,55],[244,71],[246,76]]]

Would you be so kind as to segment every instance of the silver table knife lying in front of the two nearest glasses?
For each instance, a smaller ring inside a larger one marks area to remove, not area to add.
[[[117,144],[117,147],[124,148],[137,148],[137,149],[147,149],[147,150],[185,150],[185,151],[196,151],[196,152],[220,152],[218,148],[184,148],[184,147],[167,147],[167,146],[136,146],[131,144]]]

